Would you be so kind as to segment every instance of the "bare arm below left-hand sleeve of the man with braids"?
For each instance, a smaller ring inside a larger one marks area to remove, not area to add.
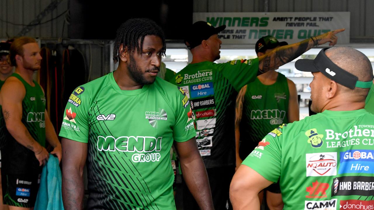
[[[83,167],[87,143],[62,138],[62,201],[65,210],[83,209]]]

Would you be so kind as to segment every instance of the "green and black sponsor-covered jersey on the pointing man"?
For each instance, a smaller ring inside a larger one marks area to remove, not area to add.
[[[235,165],[235,100],[257,77],[258,58],[189,64],[170,80],[190,98],[196,142],[205,167]]]

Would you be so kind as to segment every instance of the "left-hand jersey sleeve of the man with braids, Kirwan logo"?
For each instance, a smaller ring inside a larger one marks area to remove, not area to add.
[[[77,142],[88,142],[88,104],[88,91],[83,86],[77,87],[66,104],[59,136]]]

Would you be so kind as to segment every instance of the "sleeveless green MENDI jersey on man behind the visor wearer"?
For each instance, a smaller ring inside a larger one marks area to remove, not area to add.
[[[278,73],[274,84],[265,85],[256,78],[247,84],[240,122],[239,155],[244,160],[258,142],[283,123],[288,123],[289,90],[287,78]]]

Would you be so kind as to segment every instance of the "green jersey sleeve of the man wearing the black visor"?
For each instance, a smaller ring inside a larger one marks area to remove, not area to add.
[[[265,179],[277,182],[281,175],[283,124],[268,133],[243,161]]]

